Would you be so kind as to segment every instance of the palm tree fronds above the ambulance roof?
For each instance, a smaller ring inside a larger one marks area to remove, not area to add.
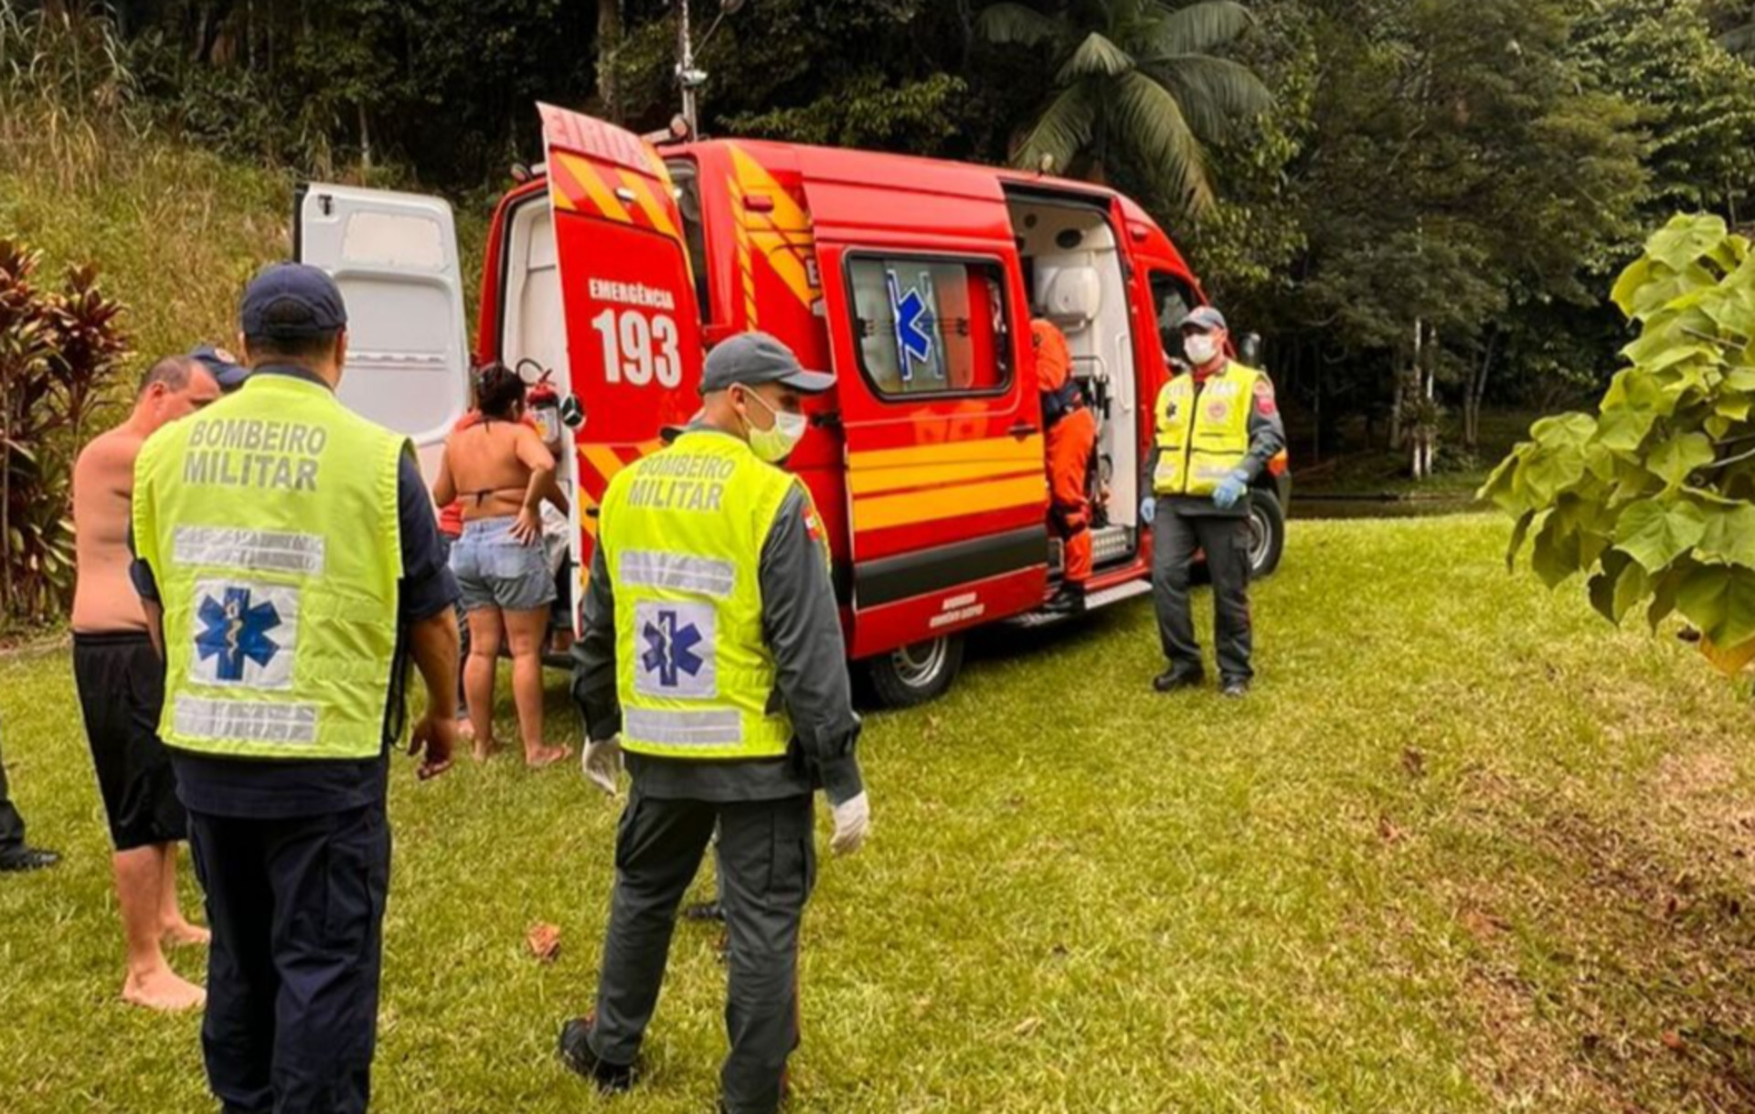
[[[1250,23],[1230,0],[1072,0],[1058,16],[988,5],[976,23],[988,42],[1048,46],[1055,60],[1055,93],[1013,163],[1100,179],[1107,156],[1127,153],[1200,214],[1213,204],[1202,142],[1228,139],[1272,105],[1246,65],[1209,53]]]

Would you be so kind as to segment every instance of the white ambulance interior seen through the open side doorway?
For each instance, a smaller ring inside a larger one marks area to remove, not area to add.
[[[1097,565],[1127,560],[1139,526],[1139,379],[1127,275],[1102,209],[1013,196],[1007,204],[1034,314],[1067,337],[1072,375],[1097,416],[1093,549]],[[1099,505],[1102,491],[1109,491]]]

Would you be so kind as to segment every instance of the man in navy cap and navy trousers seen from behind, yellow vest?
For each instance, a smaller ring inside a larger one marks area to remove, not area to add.
[[[363,1114],[390,889],[388,751],[409,658],[421,777],[451,763],[456,619],[407,439],[335,398],[347,312],[298,263],[244,291],[244,386],[147,439],[133,581],[212,951],[202,1047],[226,1110]]]

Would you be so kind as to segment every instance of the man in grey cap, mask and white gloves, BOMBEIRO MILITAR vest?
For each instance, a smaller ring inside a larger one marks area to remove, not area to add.
[[[700,416],[604,495],[574,647],[586,774],[634,789],[597,1010],[562,1028],[567,1065],[632,1086],[677,903],[720,828],[730,1056],[720,1109],[769,1114],[799,1044],[799,921],[816,877],[813,793],[830,847],[865,840],[846,647],[811,495],[776,465],[804,437],[806,395],[834,386],[779,340],[744,333],[707,356]]]

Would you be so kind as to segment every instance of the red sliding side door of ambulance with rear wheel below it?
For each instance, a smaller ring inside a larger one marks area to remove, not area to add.
[[[1048,484],[1030,321],[992,174],[800,153],[848,449],[855,658],[890,703],[958,632],[1042,603]],[[885,667],[888,661],[892,667]]]

